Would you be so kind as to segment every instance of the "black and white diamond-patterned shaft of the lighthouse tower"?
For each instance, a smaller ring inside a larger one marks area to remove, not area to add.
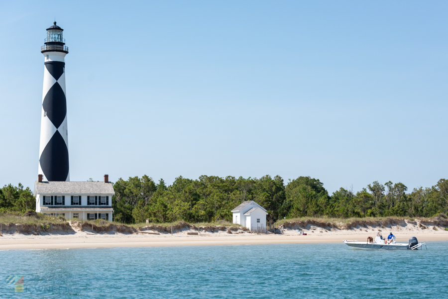
[[[39,174],[45,181],[69,181],[65,63],[45,62]]]

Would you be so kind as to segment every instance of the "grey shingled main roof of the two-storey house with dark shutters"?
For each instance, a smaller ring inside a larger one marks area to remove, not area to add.
[[[112,183],[104,182],[36,182],[34,196],[37,194],[115,194]]]

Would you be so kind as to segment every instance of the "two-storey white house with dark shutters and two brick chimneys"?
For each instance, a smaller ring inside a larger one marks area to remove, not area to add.
[[[34,185],[36,212],[66,219],[105,219],[112,221],[112,183],[104,182],[44,182],[42,175]]]

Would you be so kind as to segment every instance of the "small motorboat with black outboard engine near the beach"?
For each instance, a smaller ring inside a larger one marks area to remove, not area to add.
[[[422,249],[422,246],[426,243],[419,243],[416,237],[409,239],[409,243],[396,243],[395,236],[392,237],[392,241],[383,239],[380,232],[376,234],[375,240],[372,243],[369,242],[358,242],[358,240],[343,240],[345,244],[350,247],[359,249],[377,249],[377,250],[417,250]]]

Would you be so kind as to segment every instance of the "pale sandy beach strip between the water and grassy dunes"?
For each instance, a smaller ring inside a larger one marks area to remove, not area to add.
[[[392,232],[397,242],[407,242],[417,237],[420,242],[447,241],[448,231],[427,230],[426,232]],[[387,235],[388,232],[383,232]],[[75,234],[24,235],[12,234],[0,237],[0,250],[11,249],[67,249],[67,248],[106,248],[106,247],[158,247],[158,246],[210,246],[210,245],[259,245],[259,244],[307,244],[341,243],[342,240],[367,240],[375,236],[372,231],[335,230],[299,235],[289,230],[283,234],[239,233],[201,233],[187,235],[186,231],[171,234],[92,234],[79,231]]]

